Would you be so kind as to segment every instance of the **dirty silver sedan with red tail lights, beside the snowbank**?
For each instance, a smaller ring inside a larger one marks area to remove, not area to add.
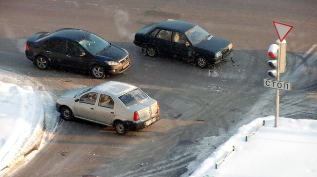
[[[76,117],[114,126],[120,135],[160,120],[158,101],[135,86],[114,81],[68,91],[57,100],[56,108],[67,121]]]

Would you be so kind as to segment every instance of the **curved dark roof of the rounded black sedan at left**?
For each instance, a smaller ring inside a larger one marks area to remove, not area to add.
[[[42,40],[46,38],[57,37],[57,38],[63,38],[63,39],[68,39],[72,41],[80,41],[81,39],[85,38],[85,35],[90,35],[90,34],[91,34],[90,32],[75,29],[75,28],[62,28],[62,29],[53,31],[49,35],[46,35],[40,39]]]

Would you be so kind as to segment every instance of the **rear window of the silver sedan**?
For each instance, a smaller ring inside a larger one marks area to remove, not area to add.
[[[142,103],[147,98],[148,96],[141,89],[134,89],[119,96],[121,102],[127,107]]]

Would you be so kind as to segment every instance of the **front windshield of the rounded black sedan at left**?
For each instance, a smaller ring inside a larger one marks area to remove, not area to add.
[[[99,53],[110,46],[109,42],[94,34],[85,35],[79,44],[92,54]]]

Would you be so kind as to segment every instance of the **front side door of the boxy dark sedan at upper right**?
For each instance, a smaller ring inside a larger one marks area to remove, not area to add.
[[[191,56],[192,47],[184,34],[173,32],[172,53],[183,57]]]

